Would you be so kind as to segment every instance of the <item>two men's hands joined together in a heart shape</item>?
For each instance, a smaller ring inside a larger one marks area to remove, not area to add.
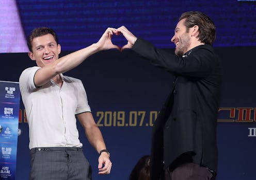
[[[111,41],[111,38],[113,37],[114,34],[115,35],[123,34],[124,38],[127,40],[127,44],[124,45],[123,47],[114,45]],[[121,26],[117,29],[109,27],[106,29],[101,39],[98,41],[98,45],[99,45],[99,48],[102,50],[115,48],[122,51],[123,49],[126,49],[126,48],[132,48],[136,40],[137,38],[135,37],[135,35],[124,26]]]

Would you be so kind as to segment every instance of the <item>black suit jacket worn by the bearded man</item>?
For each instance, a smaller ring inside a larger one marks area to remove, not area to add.
[[[177,77],[152,129],[151,179],[184,153],[217,172],[222,65],[213,47],[199,45],[179,57],[138,38],[132,49]]]

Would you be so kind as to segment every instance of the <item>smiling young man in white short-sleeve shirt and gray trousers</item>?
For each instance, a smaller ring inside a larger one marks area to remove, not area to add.
[[[37,66],[20,76],[20,89],[29,125],[29,179],[91,179],[91,167],[78,139],[76,117],[91,145],[98,151],[99,174],[109,174],[111,161],[100,129],[91,114],[87,95],[79,79],[62,73],[81,64],[93,53],[118,48],[111,42],[114,28],[86,48],[59,58],[57,34],[46,27],[28,37],[28,56]]]

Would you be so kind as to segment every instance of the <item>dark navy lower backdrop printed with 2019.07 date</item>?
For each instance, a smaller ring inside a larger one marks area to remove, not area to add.
[[[256,94],[253,78],[256,47],[216,48],[223,61],[222,99],[217,138],[217,180],[253,180],[256,161]],[[173,52],[174,49],[166,49]],[[61,56],[69,53],[61,53]],[[1,79],[18,81],[26,67],[34,66],[27,53],[0,54]],[[152,124],[172,85],[173,76],[151,65],[131,50],[108,50],[89,57],[66,73],[85,86],[95,121],[111,152],[111,174],[98,175],[98,153],[89,145],[77,122],[93,179],[128,179],[138,159],[150,153]],[[28,124],[20,106],[16,179],[28,179]],[[47,133],[47,132],[45,132]],[[54,136],[54,135],[53,135]]]

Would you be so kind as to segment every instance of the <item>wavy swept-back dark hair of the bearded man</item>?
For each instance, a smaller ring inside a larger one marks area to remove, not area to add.
[[[209,16],[199,11],[189,11],[181,14],[179,21],[185,19],[184,25],[191,28],[195,25],[199,27],[199,41],[204,44],[213,45],[216,39],[216,27]]]

